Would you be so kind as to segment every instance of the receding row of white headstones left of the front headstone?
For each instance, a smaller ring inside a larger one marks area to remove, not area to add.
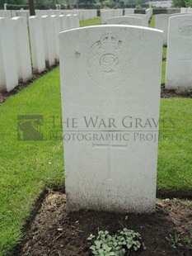
[[[59,32],[79,27],[77,15],[0,18],[0,91],[10,92],[19,81],[59,62]],[[30,59],[31,46],[31,59]],[[32,60],[32,63],[31,63]]]

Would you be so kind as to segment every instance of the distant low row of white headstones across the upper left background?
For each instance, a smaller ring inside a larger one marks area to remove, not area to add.
[[[79,20],[91,20],[97,17],[97,10],[96,9],[89,9],[89,10],[36,10],[35,11],[35,15],[36,16],[44,16],[44,15],[74,15],[77,14],[79,17]],[[4,11],[4,10],[0,10],[0,17],[30,17],[30,12],[28,10],[23,10],[23,11],[16,11],[16,10],[12,10],[12,11]]]

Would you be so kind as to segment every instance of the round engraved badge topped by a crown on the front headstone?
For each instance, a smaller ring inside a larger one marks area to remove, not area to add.
[[[88,52],[88,74],[102,88],[119,88],[129,82],[133,67],[128,49],[112,32],[101,36]]]

